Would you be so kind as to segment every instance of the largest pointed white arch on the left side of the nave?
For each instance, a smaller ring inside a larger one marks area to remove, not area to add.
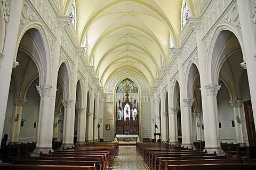
[[[51,72],[52,72],[52,62],[51,62],[51,52],[49,40],[47,40],[46,31],[41,23],[36,21],[29,22],[25,24],[18,33],[17,46],[15,47],[14,61],[17,60],[18,49],[20,48],[20,43],[25,35],[25,33],[30,34],[30,41],[35,45],[37,52],[37,57],[33,57],[39,72],[39,84],[51,84]],[[29,49],[27,49],[29,50]],[[30,49],[30,52],[33,52]],[[32,55],[34,56],[34,55]]]

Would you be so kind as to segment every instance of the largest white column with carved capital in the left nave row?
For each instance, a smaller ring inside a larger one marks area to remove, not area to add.
[[[49,153],[52,150],[53,116],[50,112],[52,86],[43,84],[36,86],[40,95],[36,149],[34,152]],[[50,126],[49,126],[50,124]]]

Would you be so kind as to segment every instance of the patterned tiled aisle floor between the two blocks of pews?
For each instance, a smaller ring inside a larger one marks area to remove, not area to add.
[[[142,158],[136,151],[136,147],[119,146],[111,170],[148,170],[149,168],[143,162]]]

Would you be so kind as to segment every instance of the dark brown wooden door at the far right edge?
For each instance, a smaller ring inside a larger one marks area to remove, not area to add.
[[[252,113],[252,101],[245,101],[244,102],[244,111],[245,111],[245,121],[246,121],[246,128],[247,134],[249,139],[249,146],[256,146],[256,132],[255,132],[255,124],[253,120],[253,113]]]

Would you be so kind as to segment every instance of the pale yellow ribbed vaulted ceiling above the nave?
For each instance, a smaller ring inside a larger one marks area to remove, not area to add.
[[[73,0],[59,0],[68,14]],[[104,86],[122,69],[136,70],[150,87],[170,62],[170,36],[181,45],[182,0],[76,0],[76,41],[87,41],[86,61]],[[199,16],[201,0],[187,0]]]

